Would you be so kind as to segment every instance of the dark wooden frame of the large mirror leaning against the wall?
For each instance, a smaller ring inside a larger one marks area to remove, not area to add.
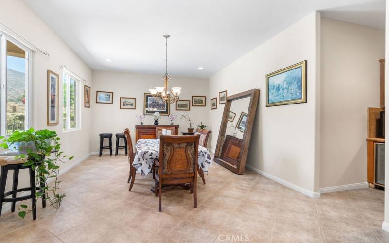
[[[223,117],[222,117],[222,122],[220,124],[219,137],[217,138],[215,156],[213,160],[216,163],[220,164],[221,166],[229,169],[230,171],[236,174],[243,174],[245,172],[248,147],[250,145],[251,133],[252,133],[252,128],[255,120],[255,114],[257,112],[259,94],[260,94],[260,90],[256,88],[239,94],[234,94],[227,97],[226,104],[224,105]],[[242,148],[238,158],[238,163],[237,166],[235,167],[232,164],[221,159],[222,148],[226,136],[228,115],[230,113],[232,101],[240,100],[247,97],[250,97],[250,103],[248,105],[248,113],[247,113],[247,123],[242,138],[243,142],[242,142]]]

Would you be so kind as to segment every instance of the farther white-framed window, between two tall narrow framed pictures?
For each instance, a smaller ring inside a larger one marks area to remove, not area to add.
[[[63,130],[81,129],[80,87],[81,82],[69,72],[63,73]]]

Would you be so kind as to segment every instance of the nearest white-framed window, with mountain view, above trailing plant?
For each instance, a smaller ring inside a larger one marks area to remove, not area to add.
[[[0,32],[0,134],[26,130],[31,112],[31,50]]]

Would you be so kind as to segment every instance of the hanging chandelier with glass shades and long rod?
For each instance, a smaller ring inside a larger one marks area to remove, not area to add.
[[[163,37],[166,39],[166,49],[165,49],[166,69],[165,69],[165,76],[163,77],[164,86],[151,88],[149,89],[149,91],[153,95],[153,97],[159,98],[160,100],[163,101],[163,103],[173,104],[175,101],[179,100],[179,94],[181,93],[181,88],[172,87],[171,89],[169,89],[170,77],[167,74],[167,38],[169,38],[170,35],[163,35]]]

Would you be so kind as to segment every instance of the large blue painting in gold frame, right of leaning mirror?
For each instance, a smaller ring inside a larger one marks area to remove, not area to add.
[[[307,102],[307,61],[266,75],[266,107]]]

